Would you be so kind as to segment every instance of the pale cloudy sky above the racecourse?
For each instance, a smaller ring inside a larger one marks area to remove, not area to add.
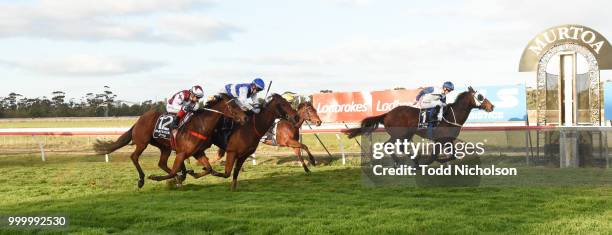
[[[110,86],[163,100],[202,85],[272,92],[533,84],[523,49],[543,30],[612,39],[612,1],[0,0],[0,97],[68,98]],[[602,73],[602,80],[612,74]]]

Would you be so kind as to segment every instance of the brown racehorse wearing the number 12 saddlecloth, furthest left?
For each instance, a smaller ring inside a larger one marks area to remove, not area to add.
[[[161,115],[162,113],[160,112],[148,111],[140,116],[130,130],[123,133],[116,141],[98,140],[94,144],[94,150],[98,154],[112,153],[115,150],[128,145],[130,142],[135,144],[136,149],[132,153],[131,159],[132,163],[136,167],[136,170],[138,170],[138,188],[142,188],[144,185],[144,172],[140,167],[138,159],[149,144],[159,148],[161,152],[158,163],[159,168],[168,173],[172,172],[172,170],[166,165],[168,157],[172,152],[171,141],[166,139],[156,139],[152,136],[153,129],[155,128],[156,122]],[[239,123],[245,123],[247,121],[246,114],[236,104],[235,99],[225,94],[219,94],[215,96],[213,100],[208,101],[204,109],[196,110],[190,121],[179,128],[176,138],[176,146],[193,146],[193,144],[199,143],[200,139],[198,137],[206,136],[210,130],[214,130],[214,127],[217,125],[217,122],[223,115],[228,116]],[[182,166],[182,170],[183,173],[186,172],[184,166]],[[177,182],[182,180],[184,180],[184,178],[179,179]]]

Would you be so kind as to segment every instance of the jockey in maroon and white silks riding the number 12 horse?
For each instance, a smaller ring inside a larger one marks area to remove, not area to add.
[[[170,97],[166,103],[166,111],[175,116],[170,129],[172,135],[176,137],[178,125],[188,112],[198,108],[198,101],[204,97],[204,90],[201,86],[193,86],[189,90],[182,90]]]

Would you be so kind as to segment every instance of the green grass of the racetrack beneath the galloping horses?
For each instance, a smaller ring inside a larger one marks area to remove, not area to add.
[[[147,174],[160,174],[143,156]],[[312,167],[293,158],[246,165],[237,192],[229,180],[188,178],[182,189],[146,181],[137,189],[126,156],[0,156],[0,215],[69,217],[66,230],[129,234],[610,233],[609,187],[365,187],[355,162]],[[279,165],[279,163],[282,163]],[[192,161],[193,164],[193,161]],[[220,169],[219,166],[215,166]]]

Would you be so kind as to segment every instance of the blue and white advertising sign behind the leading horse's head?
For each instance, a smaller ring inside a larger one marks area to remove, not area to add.
[[[474,90],[484,95],[494,106],[493,112],[474,109],[468,117],[468,122],[508,122],[527,120],[527,91],[525,84],[505,86],[479,86]],[[457,89],[449,94],[448,102],[463,92]]]

